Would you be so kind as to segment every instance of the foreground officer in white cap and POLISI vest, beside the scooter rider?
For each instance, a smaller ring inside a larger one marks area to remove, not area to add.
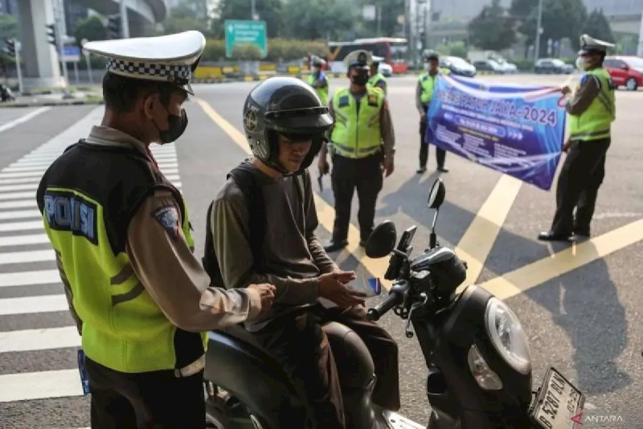
[[[82,336],[92,428],[205,428],[208,330],[257,318],[274,297],[273,285],[211,287],[183,196],[149,149],[185,131],[204,46],[196,31],[84,45],[107,57],[104,117],[37,190]]]

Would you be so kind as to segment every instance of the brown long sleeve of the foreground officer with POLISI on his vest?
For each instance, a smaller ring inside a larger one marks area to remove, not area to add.
[[[163,314],[190,332],[222,329],[255,318],[260,296],[252,289],[210,287],[180,227],[179,207],[168,191],[141,205],[127,231],[132,269]]]

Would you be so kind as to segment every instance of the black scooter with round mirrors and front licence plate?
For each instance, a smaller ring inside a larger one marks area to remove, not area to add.
[[[402,234],[382,222],[368,239],[367,256],[392,253],[386,299],[369,309],[371,320],[394,310],[417,336],[428,368],[429,429],[576,429],[584,394],[550,367],[532,391],[532,362],[520,320],[489,291],[469,285],[466,263],[437,242],[435,223],[446,189],[438,179],[428,206],[435,209],[430,247],[411,259],[417,227]],[[374,365],[359,337],[331,322],[323,326],[338,363],[347,428],[424,428],[370,402]],[[344,358],[341,354],[345,354]],[[217,429],[305,428],[306,413],[284,370],[242,327],[210,332],[204,377],[206,420]]]

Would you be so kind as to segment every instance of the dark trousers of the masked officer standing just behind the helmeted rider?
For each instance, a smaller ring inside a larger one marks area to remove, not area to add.
[[[333,155],[331,183],[335,198],[335,224],[332,241],[343,242],[349,235],[350,205],[355,189],[358,190],[358,222],[361,240],[373,231],[377,195],[382,190],[382,155],[352,159]]]

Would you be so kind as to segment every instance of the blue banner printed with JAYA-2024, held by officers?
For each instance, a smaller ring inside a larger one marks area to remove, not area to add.
[[[424,142],[548,191],[565,138],[562,100],[550,86],[440,75]]]

